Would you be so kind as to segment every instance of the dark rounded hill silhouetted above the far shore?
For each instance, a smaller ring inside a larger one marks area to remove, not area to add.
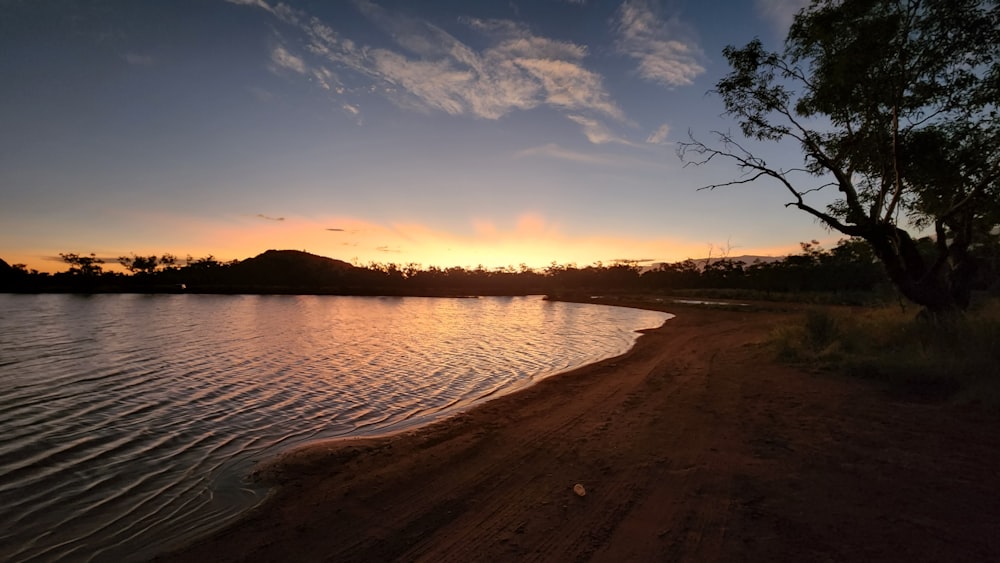
[[[342,260],[300,250],[268,250],[233,265],[227,277],[253,286],[321,288],[341,285],[355,270]]]

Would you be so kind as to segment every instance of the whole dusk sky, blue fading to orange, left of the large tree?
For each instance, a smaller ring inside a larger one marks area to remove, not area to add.
[[[0,258],[544,267],[834,241],[717,190],[722,49],[803,0],[0,0]],[[795,146],[758,149],[801,163]]]

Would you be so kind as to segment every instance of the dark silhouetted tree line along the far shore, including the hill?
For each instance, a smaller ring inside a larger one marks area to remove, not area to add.
[[[925,241],[928,252],[933,242]],[[775,260],[721,257],[641,267],[619,261],[578,267],[553,262],[487,269],[424,268],[419,264],[355,266],[295,250],[269,250],[243,261],[213,256],[181,260],[172,254],[118,258],[125,272],[109,271],[94,254],[60,254],[68,269],[56,274],[0,260],[0,289],[13,292],[83,293],[276,293],[331,295],[585,295],[669,293],[689,290],[750,290],[767,294],[820,292],[848,295],[891,293],[889,279],[870,245],[844,239],[832,249],[816,241]],[[980,260],[976,288],[998,286],[1000,252]]]

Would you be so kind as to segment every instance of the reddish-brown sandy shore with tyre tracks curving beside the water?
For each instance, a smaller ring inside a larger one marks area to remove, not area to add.
[[[1000,560],[995,411],[775,363],[795,312],[668,310],[624,356],[288,452],[267,502],[158,560]]]

